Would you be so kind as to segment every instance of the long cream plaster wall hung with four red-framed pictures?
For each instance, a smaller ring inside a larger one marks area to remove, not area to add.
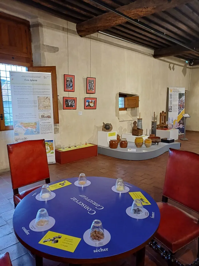
[[[55,65],[57,69],[59,125],[55,125],[56,147],[84,141],[97,143],[97,131],[101,130],[102,122],[112,123],[113,130],[120,135],[130,133],[131,121],[119,122],[118,119],[118,92],[140,96],[137,114],[141,113],[146,133],[151,127],[153,112],[159,119],[159,113],[166,109],[167,87],[188,88],[190,68],[183,60],[154,59],[150,49],[99,33],[93,34],[91,39],[90,36],[80,38],[75,32],[75,24],[22,3],[15,2],[14,7],[12,4],[12,0],[3,0],[0,10],[26,18],[31,24],[41,23],[41,44],[59,47],[55,53],[43,51],[41,62],[41,65]],[[63,91],[64,74],[75,75],[75,92]],[[96,94],[93,95],[97,97],[96,110],[84,110],[84,97],[88,97],[87,76],[96,77]],[[62,110],[63,96],[77,97],[77,109]],[[78,111],[82,111],[82,116],[78,116]],[[8,168],[6,144],[12,142],[13,133],[0,132],[0,135],[0,169],[5,169]]]

